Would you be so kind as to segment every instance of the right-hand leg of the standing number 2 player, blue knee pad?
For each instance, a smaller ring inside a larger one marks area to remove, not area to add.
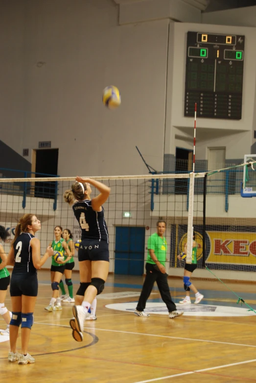
[[[34,287],[31,288],[33,293]],[[34,291],[37,295],[37,291]],[[30,338],[31,327],[34,323],[34,310],[37,296],[22,296],[22,357],[19,359],[19,364],[34,363],[35,359],[28,354],[28,343]]]

